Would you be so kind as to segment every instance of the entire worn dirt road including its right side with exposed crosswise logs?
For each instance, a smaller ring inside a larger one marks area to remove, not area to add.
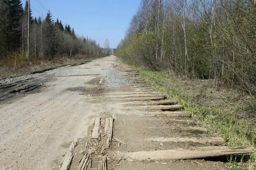
[[[221,145],[223,141],[209,136],[206,128],[189,118],[189,113],[170,113],[182,106],[176,101],[156,101],[165,96],[152,92],[136,72],[122,69],[127,67],[110,56],[19,80],[39,86],[29,92],[15,92],[0,103],[0,167],[65,169],[68,162],[70,169],[78,169],[84,156],[93,160],[94,169],[98,169],[102,157],[108,161],[109,169],[225,169],[219,160],[172,161],[169,157],[158,159],[158,153],[151,152],[144,153],[148,154],[146,159],[143,153],[136,156],[136,151],[187,149]],[[0,85],[5,86],[4,82]],[[177,120],[174,116],[179,115],[188,118]],[[105,138],[107,145],[102,144]],[[102,148],[101,154],[90,155]],[[221,149],[226,148],[217,150]],[[232,151],[229,149],[228,153]],[[251,150],[244,151],[247,152]],[[66,160],[68,154],[72,156],[70,162]]]

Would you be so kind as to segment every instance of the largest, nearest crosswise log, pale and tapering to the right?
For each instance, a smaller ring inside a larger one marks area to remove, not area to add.
[[[199,148],[178,148],[172,150],[158,150],[158,151],[138,151],[138,152],[117,152],[118,155],[124,155],[125,158],[136,160],[184,160],[184,159],[202,159],[211,157],[221,157],[225,155],[241,155],[250,154],[254,150],[252,147],[199,147]]]

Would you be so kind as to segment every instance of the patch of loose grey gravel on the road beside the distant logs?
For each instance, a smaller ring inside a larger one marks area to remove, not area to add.
[[[106,70],[104,76],[106,87],[109,88],[121,87],[129,83],[117,70]]]

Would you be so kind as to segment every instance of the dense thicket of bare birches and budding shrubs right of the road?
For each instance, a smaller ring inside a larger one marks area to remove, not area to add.
[[[142,0],[118,57],[256,94],[255,0]]]

